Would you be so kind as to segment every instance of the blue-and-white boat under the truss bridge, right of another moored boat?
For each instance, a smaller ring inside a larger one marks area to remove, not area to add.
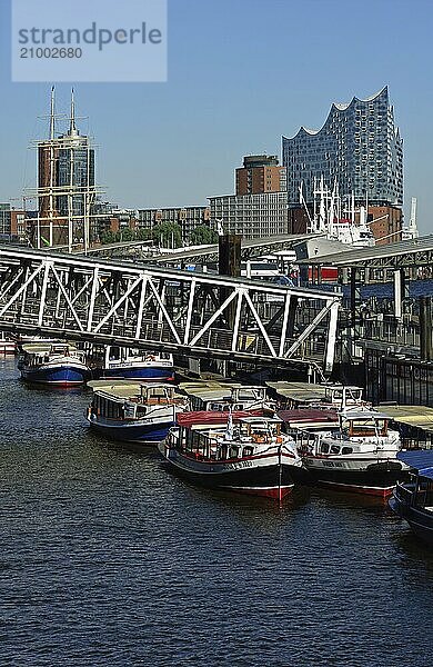
[[[102,376],[105,379],[174,380],[173,355],[107,346]]]

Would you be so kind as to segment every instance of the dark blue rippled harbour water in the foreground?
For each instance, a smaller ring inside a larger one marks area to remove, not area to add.
[[[1,666],[432,664],[433,551],[381,502],[188,486],[10,360],[0,397]]]

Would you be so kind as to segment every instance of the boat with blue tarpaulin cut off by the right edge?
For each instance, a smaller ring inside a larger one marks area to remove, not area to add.
[[[433,546],[433,450],[401,451],[397,458],[411,467],[412,479],[396,485],[389,505],[417,537]]]

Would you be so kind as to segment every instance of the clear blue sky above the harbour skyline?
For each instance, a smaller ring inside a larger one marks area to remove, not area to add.
[[[10,1],[0,0],[0,201],[20,206],[36,182],[29,145],[47,136],[50,83],[11,82]],[[103,199],[203,206],[234,191],[244,155],[281,156],[282,135],[319,129],[332,102],[387,84],[406,220],[416,197],[420,231],[433,233],[432,28],[433,0],[169,0],[167,82],[74,86]],[[70,86],[57,84],[60,109]]]

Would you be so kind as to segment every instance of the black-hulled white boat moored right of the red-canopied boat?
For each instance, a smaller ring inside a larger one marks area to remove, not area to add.
[[[400,436],[387,428],[386,415],[346,411],[339,419],[336,428],[300,431],[296,438],[311,480],[338,490],[389,496],[409,467],[397,459]]]

